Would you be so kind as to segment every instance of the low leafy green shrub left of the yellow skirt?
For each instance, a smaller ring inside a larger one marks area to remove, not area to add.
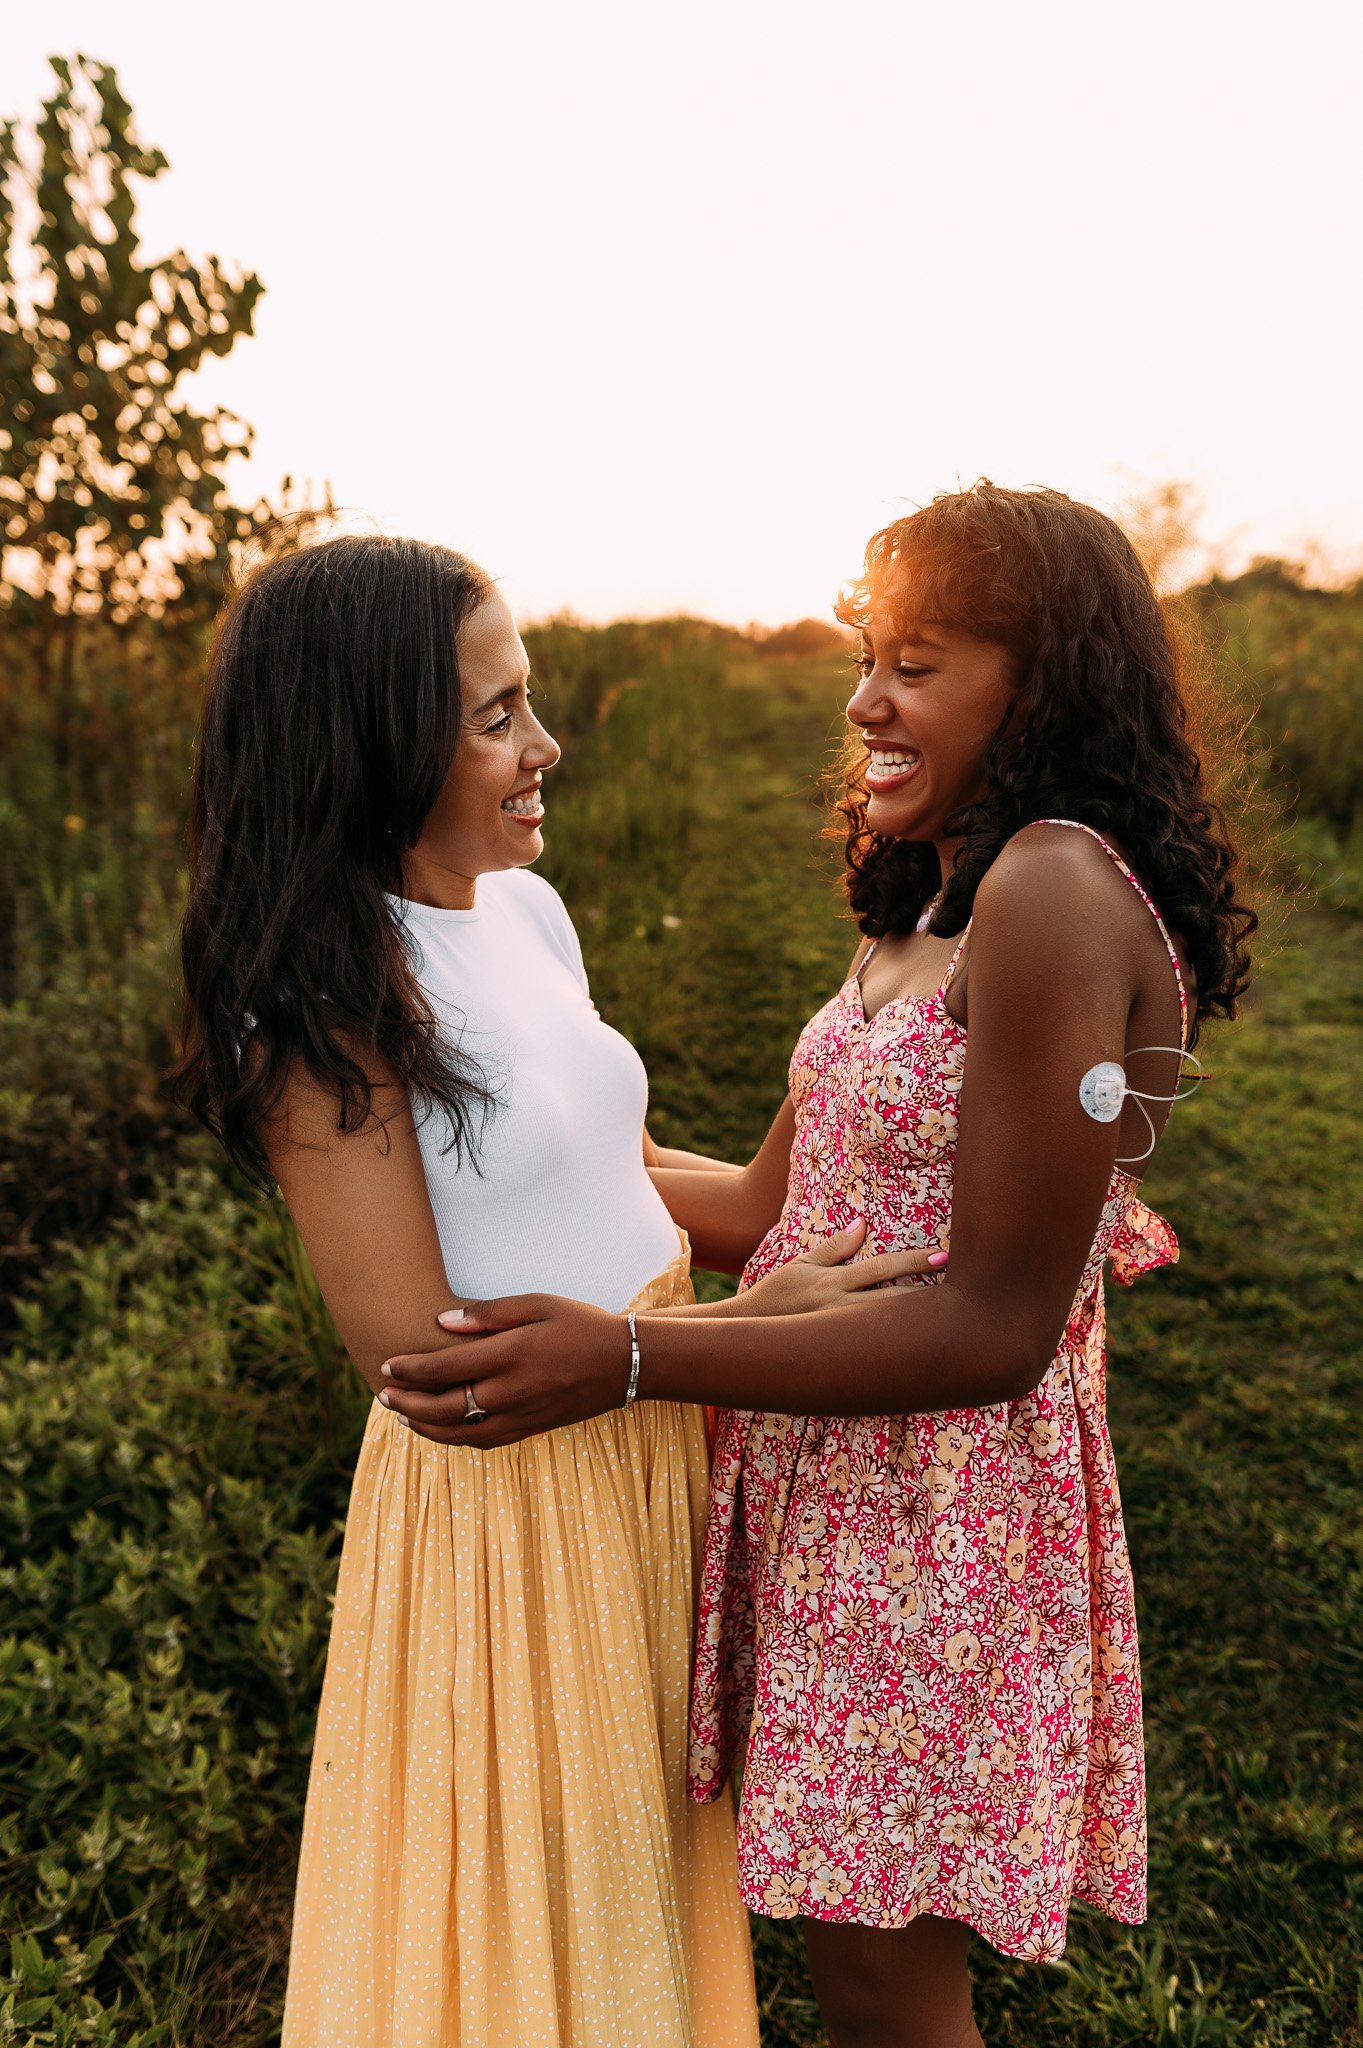
[[[16,2025],[246,2025],[252,1987],[213,1964],[244,1915],[278,1958],[364,1407],[287,1219],[207,1167],[23,1305],[0,1403]]]

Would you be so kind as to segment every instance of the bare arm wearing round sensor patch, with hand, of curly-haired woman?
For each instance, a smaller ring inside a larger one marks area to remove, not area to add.
[[[855,1311],[761,1317],[753,1298],[751,1317],[643,1317],[641,1393],[866,1415],[976,1407],[1036,1386],[1117,1149],[1117,1126],[1085,1116],[1079,1079],[1124,1057],[1142,977],[1167,975],[1144,907],[1072,840],[1023,834],[978,891],[948,1274],[862,1296]],[[458,1356],[491,1419],[483,1436],[452,1427],[448,1442],[510,1442],[618,1405],[628,1352],[618,1319],[551,1296],[477,1315],[493,1333],[467,1337]],[[430,1421],[422,1403],[438,1397],[395,1399]]]

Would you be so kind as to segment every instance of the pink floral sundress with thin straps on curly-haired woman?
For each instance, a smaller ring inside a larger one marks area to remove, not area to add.
[[[1099,844],[1160,924],[1187,1042],[1169,932]],[[855,1217],[864,1255],[946,1243],[966,1032],[943,997],[966,936],[935,995],[868,1022],[849,977],[804,1026],[790,1190],[745,1286]],[[757,1913],[872,1927],[935,1913],[1031,1960],[1064,1950],[1070,1898],[1144,1919],[1140,1663],[1103,1411],[1103,1262],[1130,1282],[1177,1255],[1117,1169],[1060,1350],[1023,1401],[720,1413],[692,1794],[714,1798],[745,1749],[739,1872]]]

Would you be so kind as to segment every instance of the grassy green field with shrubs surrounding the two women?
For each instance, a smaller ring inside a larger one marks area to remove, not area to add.
[[[1109,1296],[1152,1911],[1076,1909],[1050,1968],[980,1944],[991,2048],[1363,2048],[1363,598],[1265,569],[1187,602],[1265,930],[1148,1182],[1181,1262]],[[598,1006],[655,1137],[745,1157],[853,950],[845,666],[698,621],[528,641]],[[164,1087],[203,645],[82,629],[61,733],[8,647],[0,2042],[266,2048],[368,1397],[287,1217]],[[755,1939],[765,2042],[815,2048],[798,1942]]]

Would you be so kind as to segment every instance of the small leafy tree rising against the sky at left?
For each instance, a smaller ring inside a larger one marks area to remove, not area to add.
[[[250,428],[176,391],[252,332],[262,285],[141,258],[133,186],[166,158],[108,66],[51,70],[39,121],[0,125],[0,604],[37,629],[65,758],[78,621],[203,618],[258,524],[223,481]]]

